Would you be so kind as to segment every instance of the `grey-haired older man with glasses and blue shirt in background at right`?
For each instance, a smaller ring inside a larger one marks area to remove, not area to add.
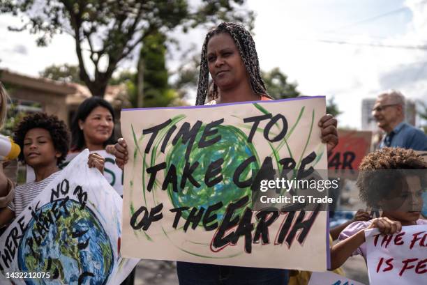
[[[427,136],[421,130],[404,122],[405,97],[398,91],[389,91],[378,96],[372,110],[378,127],[387,134],[380,142],[384,146],[412,148],[427,151]]]

